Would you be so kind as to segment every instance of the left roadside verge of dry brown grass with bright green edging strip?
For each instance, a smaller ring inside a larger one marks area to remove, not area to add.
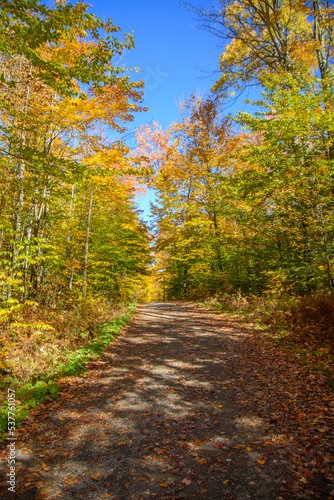
[[[18,426],[37,403],[47,397],[57,398],[60,379],[82,372],[90,361],[98,358],[129,322],[135,309],[136,304],[111,305],[103,299],[90,299],[67,312],[29,310],[21,322],[24,326],[13,331],[9,325],[3,330],[0,355],[6,357],[0,365],[2,437],[6,436],[8,424],[9,389],[11,393],[15,391]],[[41,328],[41,324],[51,328]]]

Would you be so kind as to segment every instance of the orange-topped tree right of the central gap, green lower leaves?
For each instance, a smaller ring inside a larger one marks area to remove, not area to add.
[[[142,128],[140,152],[154,166],[156,248],[169,297],[214,293],[226,283],[226,178],[236,168],[230,120],[216,98],[192,96],[166,132]]]

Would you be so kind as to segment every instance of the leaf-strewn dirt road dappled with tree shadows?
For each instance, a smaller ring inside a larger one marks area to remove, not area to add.
[[[3,498],[331,498],[319,481],[293,485],[293,436],[275,414],[291,381],[276,357],[233,319],[141,305],[87,375],[25,422],[17,493],[3,483]]]

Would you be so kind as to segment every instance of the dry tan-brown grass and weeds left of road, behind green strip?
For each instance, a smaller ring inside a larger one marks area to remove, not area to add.
[[[122,309],[101,298],[82,301],[66,311],[25,307],[16,326],[12,322],[1,331],[2,339],[10,345],[9,374],[24,383],[37,373],[52,373],[68,352],[92,340],[96,327],[112,321]]]

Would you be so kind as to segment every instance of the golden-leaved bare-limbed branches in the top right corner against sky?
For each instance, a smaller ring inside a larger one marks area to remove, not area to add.
[[[333,61],[333,9],[327,0],[219,0],[210,9],[183,2],[201,27],[220,40],[221,76],[214,89],[243,90],[263,71],[318,68],[326,80]]]

